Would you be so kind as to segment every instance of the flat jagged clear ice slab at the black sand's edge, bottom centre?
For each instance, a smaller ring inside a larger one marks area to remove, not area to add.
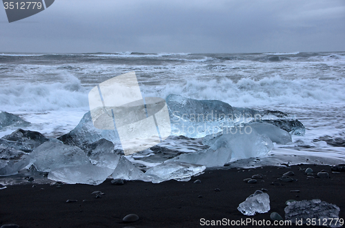
[[[205,169],[204,165],[170,161],[148,169],[145,174],[151,178],[152,183],[161,183],[166,180],[188,181],[191,176],[201,174]]]

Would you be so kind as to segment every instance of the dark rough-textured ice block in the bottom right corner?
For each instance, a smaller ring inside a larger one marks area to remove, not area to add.
[[[319,199],[294,201],[289,203],[285,209],[285,220],[296,222],[303,220],[306,224],[307,218],[324,222],[328,227],[342,227],[339,224],[339,207]],[[333,218],[333,219],[332,219]]]

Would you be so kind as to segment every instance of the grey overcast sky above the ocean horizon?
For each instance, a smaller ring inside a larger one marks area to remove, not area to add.
[[[0,52],[345,51],[344,0],[55,0],[8,23]]]

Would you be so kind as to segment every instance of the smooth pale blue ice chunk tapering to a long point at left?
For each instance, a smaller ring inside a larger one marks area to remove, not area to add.
[[[181,154],[171,160],[217,167],[223,166],[230,160],[264,156],[273,149],[270,138],[257,134],[255,129],[227,129],[215,138],[212,136],[204,138],[203,143],[210,148]]]

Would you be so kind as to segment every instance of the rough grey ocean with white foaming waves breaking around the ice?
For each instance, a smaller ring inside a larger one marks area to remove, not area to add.
[[[188,54],[135,52],[0,53],[0,111],[32,123],[32,131],[58,137],[89,111],[88,92],[134,71],[143,96],[179,94],[219,100],[233,107],[279,110],[301,121],[304,136],[275,145],[265,158],[239,161],[253,167],[282,163],[345,163],[345,52]],[[15,128],[6,128],[0,137]],[[168,139],[161,146],[195,152],[200,140]],[[127,156],[151,167],[164,158]],[[231,166],[231,165],[230,165]]]

